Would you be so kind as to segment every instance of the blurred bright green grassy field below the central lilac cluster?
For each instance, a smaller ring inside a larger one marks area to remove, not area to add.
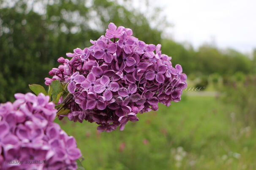
[[[184,96],[139,114],[124,131],[99,133],[94,123],[68,119],[60,125],[76,138],[86,170],[255,170],[256,130],[232,109],[214,97]]]

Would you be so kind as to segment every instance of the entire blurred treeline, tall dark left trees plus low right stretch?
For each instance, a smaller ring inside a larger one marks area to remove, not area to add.
[[[136,10],[127,10],[115,1],[92,0],[84,5],[86,2],[37,0],[32,7],[39,6],[39,14],[24,0],[13,6],[0,0],[0,102],[13,101],[14,93],[29,91],[28,84],[44,84],[49,70],[58,66],[57,58],[74,48],[88,47],[90,39],[97,40],[110,21],[133,29],[133,34],[147,43],[162,43],[162,53],[172,56],[173,65],[181,64],[188,75],[252,71],[252,61],[235,50],[185,48],[161,39],[162,32],[151,28]]]

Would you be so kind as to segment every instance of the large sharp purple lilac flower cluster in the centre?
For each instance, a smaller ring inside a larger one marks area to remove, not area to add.
[[[138,121],[137,113],[158,109],[158,103],[170,106],[180,101],[187,87],[186,74],[171,57],[161,53],[161,45],[146,44],[133,37],[131,29],[110,23],[105,36],[90,42],[89,48],[58,59],[45,84],[52,80],[68,83],[74,96],[68,119],[96,122],[98,130],[110,132],[130,121]]]

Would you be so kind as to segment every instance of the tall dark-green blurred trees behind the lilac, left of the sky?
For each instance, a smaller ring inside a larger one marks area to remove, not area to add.
[[[57,58],[85,48],[109,22],[133,29],[148,43],[160,43],[142,13],[108,0],[0,0],[0,102],[13,101],[27,85],[44,84]]]

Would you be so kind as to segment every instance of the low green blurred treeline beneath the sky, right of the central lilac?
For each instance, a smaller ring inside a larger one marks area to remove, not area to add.
[[[202,45],[198,50],[191,46],[185,47],[173,40],[162,41],[162,52],[172,56],[172,64],[182,65],[187,74],[200,72],[207,76],[212,73],[231,75],[238,71],[245,74],[252,71],[252,60],[236,50],[219,50],[209,44]]]

